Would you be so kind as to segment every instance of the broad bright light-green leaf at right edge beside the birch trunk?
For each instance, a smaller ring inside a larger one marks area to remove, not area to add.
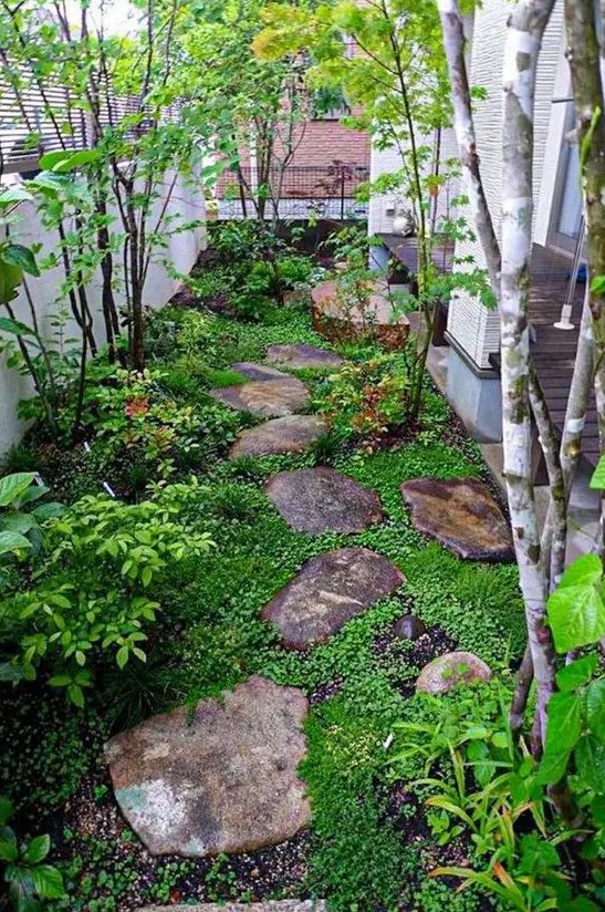
[[[605,605],[594,584],[560,585],[549,598],[547,612],[560,653],[593,645],[605,636]]]

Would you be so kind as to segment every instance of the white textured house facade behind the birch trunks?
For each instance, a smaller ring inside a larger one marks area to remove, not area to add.
[[[471,85],[481,86],[486,99],[474,104],[477,145],[488,204],[497,228],[501,222],[502,170],[502,66],[507,0],[484,0],[466,23]],[[571,76],[565,60],[563,4],[555,4],[546,29],[535,95],[534,123],[534,245],[571,259],[576,247],[582,200],[577,146],[570,142],[574,125],[570,101]],[[445,141],[455,146],[451,132]],[[392,154],[393,157],[393,154]],[[373,174],[394,165],[388,154],[373,156]],[[389,230],[388,200],[371,204],[371,230]],[[390,200],[393,209],[393,200]],[[471,255],[484,267],[479,241],[459,245],[457,256]],[[564,293],[564,288],[562,288]],[[553,296],[553,323],[561,311],[561,297]],[[496,311],[463,292],[455,293],[448,309],[448,397],[478,439],[501,439],[500,380],[491,355],[500,348],[500,323]]]

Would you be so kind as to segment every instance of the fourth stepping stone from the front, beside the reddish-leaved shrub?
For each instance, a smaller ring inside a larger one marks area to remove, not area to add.
[[[301,453],[326,431],[325,423],[315,415],[286,415],[284,418],[273,418],[258,427],[243,431],[231,447],[229,458]]]

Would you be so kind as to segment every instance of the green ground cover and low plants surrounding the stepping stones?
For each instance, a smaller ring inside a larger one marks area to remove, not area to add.
[[[225,265],[240,258],[247,265],[237,269],[250,272],[242,232],[258,258],[267,243],[258,230],[218,231],[217,261],[204,268],[226,299]],[[275,262],[290,258],[295,284],[304,258],[290,253],[275,243]],[[588,631],[561,634],[562,653],[580,654],[561,671],[552,718],[566,721],[563,736],[553,735],[539,764],[524,746],[531,733],[513,739],[505,722],[511,667],[524,649],[515,568],[458,560],[418,533],[401,500],[401,483],[418,476],[487,479],[477,446],[428,381],[420,416],[410,418],[406,352],[347,344],[341,369],[296,372],[327,433],[300,454],[227,458],[258,419],[209,391],[244,382],[233,365],[262,362],[269,345],[326,345],[305,302],[279,303],[274,287],[271,294],[270,311],[254,321],[210,300],[155,314],[145,371],[103,355],[91,363],[86,447],[53,449],[39,425],[10,456],[18,474],[0,480],[0,522],[24,537],[2,557],[0,790],[23,832],[53,827],[49,863],[64,895],[49,895],[46,908],[122,912],[309,895],[326,897],[336,912],[592,912],[603,888],[602,675]],[[263,485],[315,465],[376,491],[385,521],[352,536],[292,530]],[[34,484],[34,469],[56,485],[62,510]],[[405,574],[404,587],[328,642],[284,649],[262,608],[304,561],[341,547],[384,555]],[[599,587],[594,561],[564,579],[553,624],[574,614],[576,597],[597,610]],[[418,643],[394,633],[410,612],[428,628]],[[455,646],[487,661],[494,680],[444,697],[415,695],[427,661]],[[310,698],[301,766],[310,836],[279,854],[251,856],[248,866],[231,856],[149,858],[115,815],[100,761],[104,740],[253,674]],[[562,825],[549,770],[563,767],[572,811]],[[462,891],[453,889],[461,882]]]

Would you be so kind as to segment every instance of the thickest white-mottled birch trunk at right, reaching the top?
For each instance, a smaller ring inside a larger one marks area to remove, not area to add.
[[[547,585],[531,473],[529,304],[535,73],[553,7],[554,0],[520,0],[509,18],[502,120],[500,323],[504,478],[538,686],[536,732],[542,742],[546,705],[554,690],[554,650],[545,623]]]

